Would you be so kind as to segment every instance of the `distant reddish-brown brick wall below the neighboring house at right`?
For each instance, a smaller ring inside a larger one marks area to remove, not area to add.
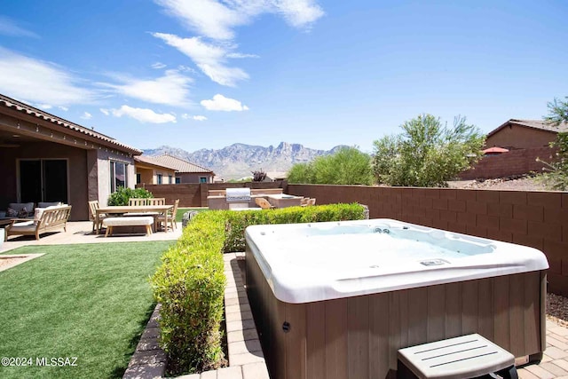
[[[542,172],[543,163],[536,162],[540,158],[546,162],[552,160],[554,151],[550,147],[534,147],[528,149],[511,150],[509,153],[487,155],[477,162],[473,170],[466,170],[460,174],[461,179],[493,179],[506,178],[513,175],[528,174],[531,171]]]

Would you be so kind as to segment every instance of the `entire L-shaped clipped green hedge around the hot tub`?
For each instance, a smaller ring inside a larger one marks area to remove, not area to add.
[[[195,216],[162,257],[151,281],[160,311],[162,348],[169,373],[197,373],[225,362],[220,326],[224,312],[223,252],[244,251],[248,225],[363,219],[359,204],[285,209],[216,210]]]

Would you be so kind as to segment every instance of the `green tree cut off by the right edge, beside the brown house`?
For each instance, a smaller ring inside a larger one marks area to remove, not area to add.
[[[566,101],[554,99],[548,102],[548,115],[544,120],[553,126],[560,126],[568,123],[568,97]],[[544,162],[537,158],[537,161],[543,162],[548,166],[550,172],[544,174],[544,183],[551,189],[566,191],[568,189],[568,133],[558,132],[556,141],[550,143],[550,147],[556,148],[556,161]]]

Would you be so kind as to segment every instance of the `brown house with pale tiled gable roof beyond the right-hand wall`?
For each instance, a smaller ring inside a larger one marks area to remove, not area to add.
[[[548,147],[559,131],[568,131],[568,124],[555,127],[542,120],[511,119],[487,134],[485,146],[509,150]]]

